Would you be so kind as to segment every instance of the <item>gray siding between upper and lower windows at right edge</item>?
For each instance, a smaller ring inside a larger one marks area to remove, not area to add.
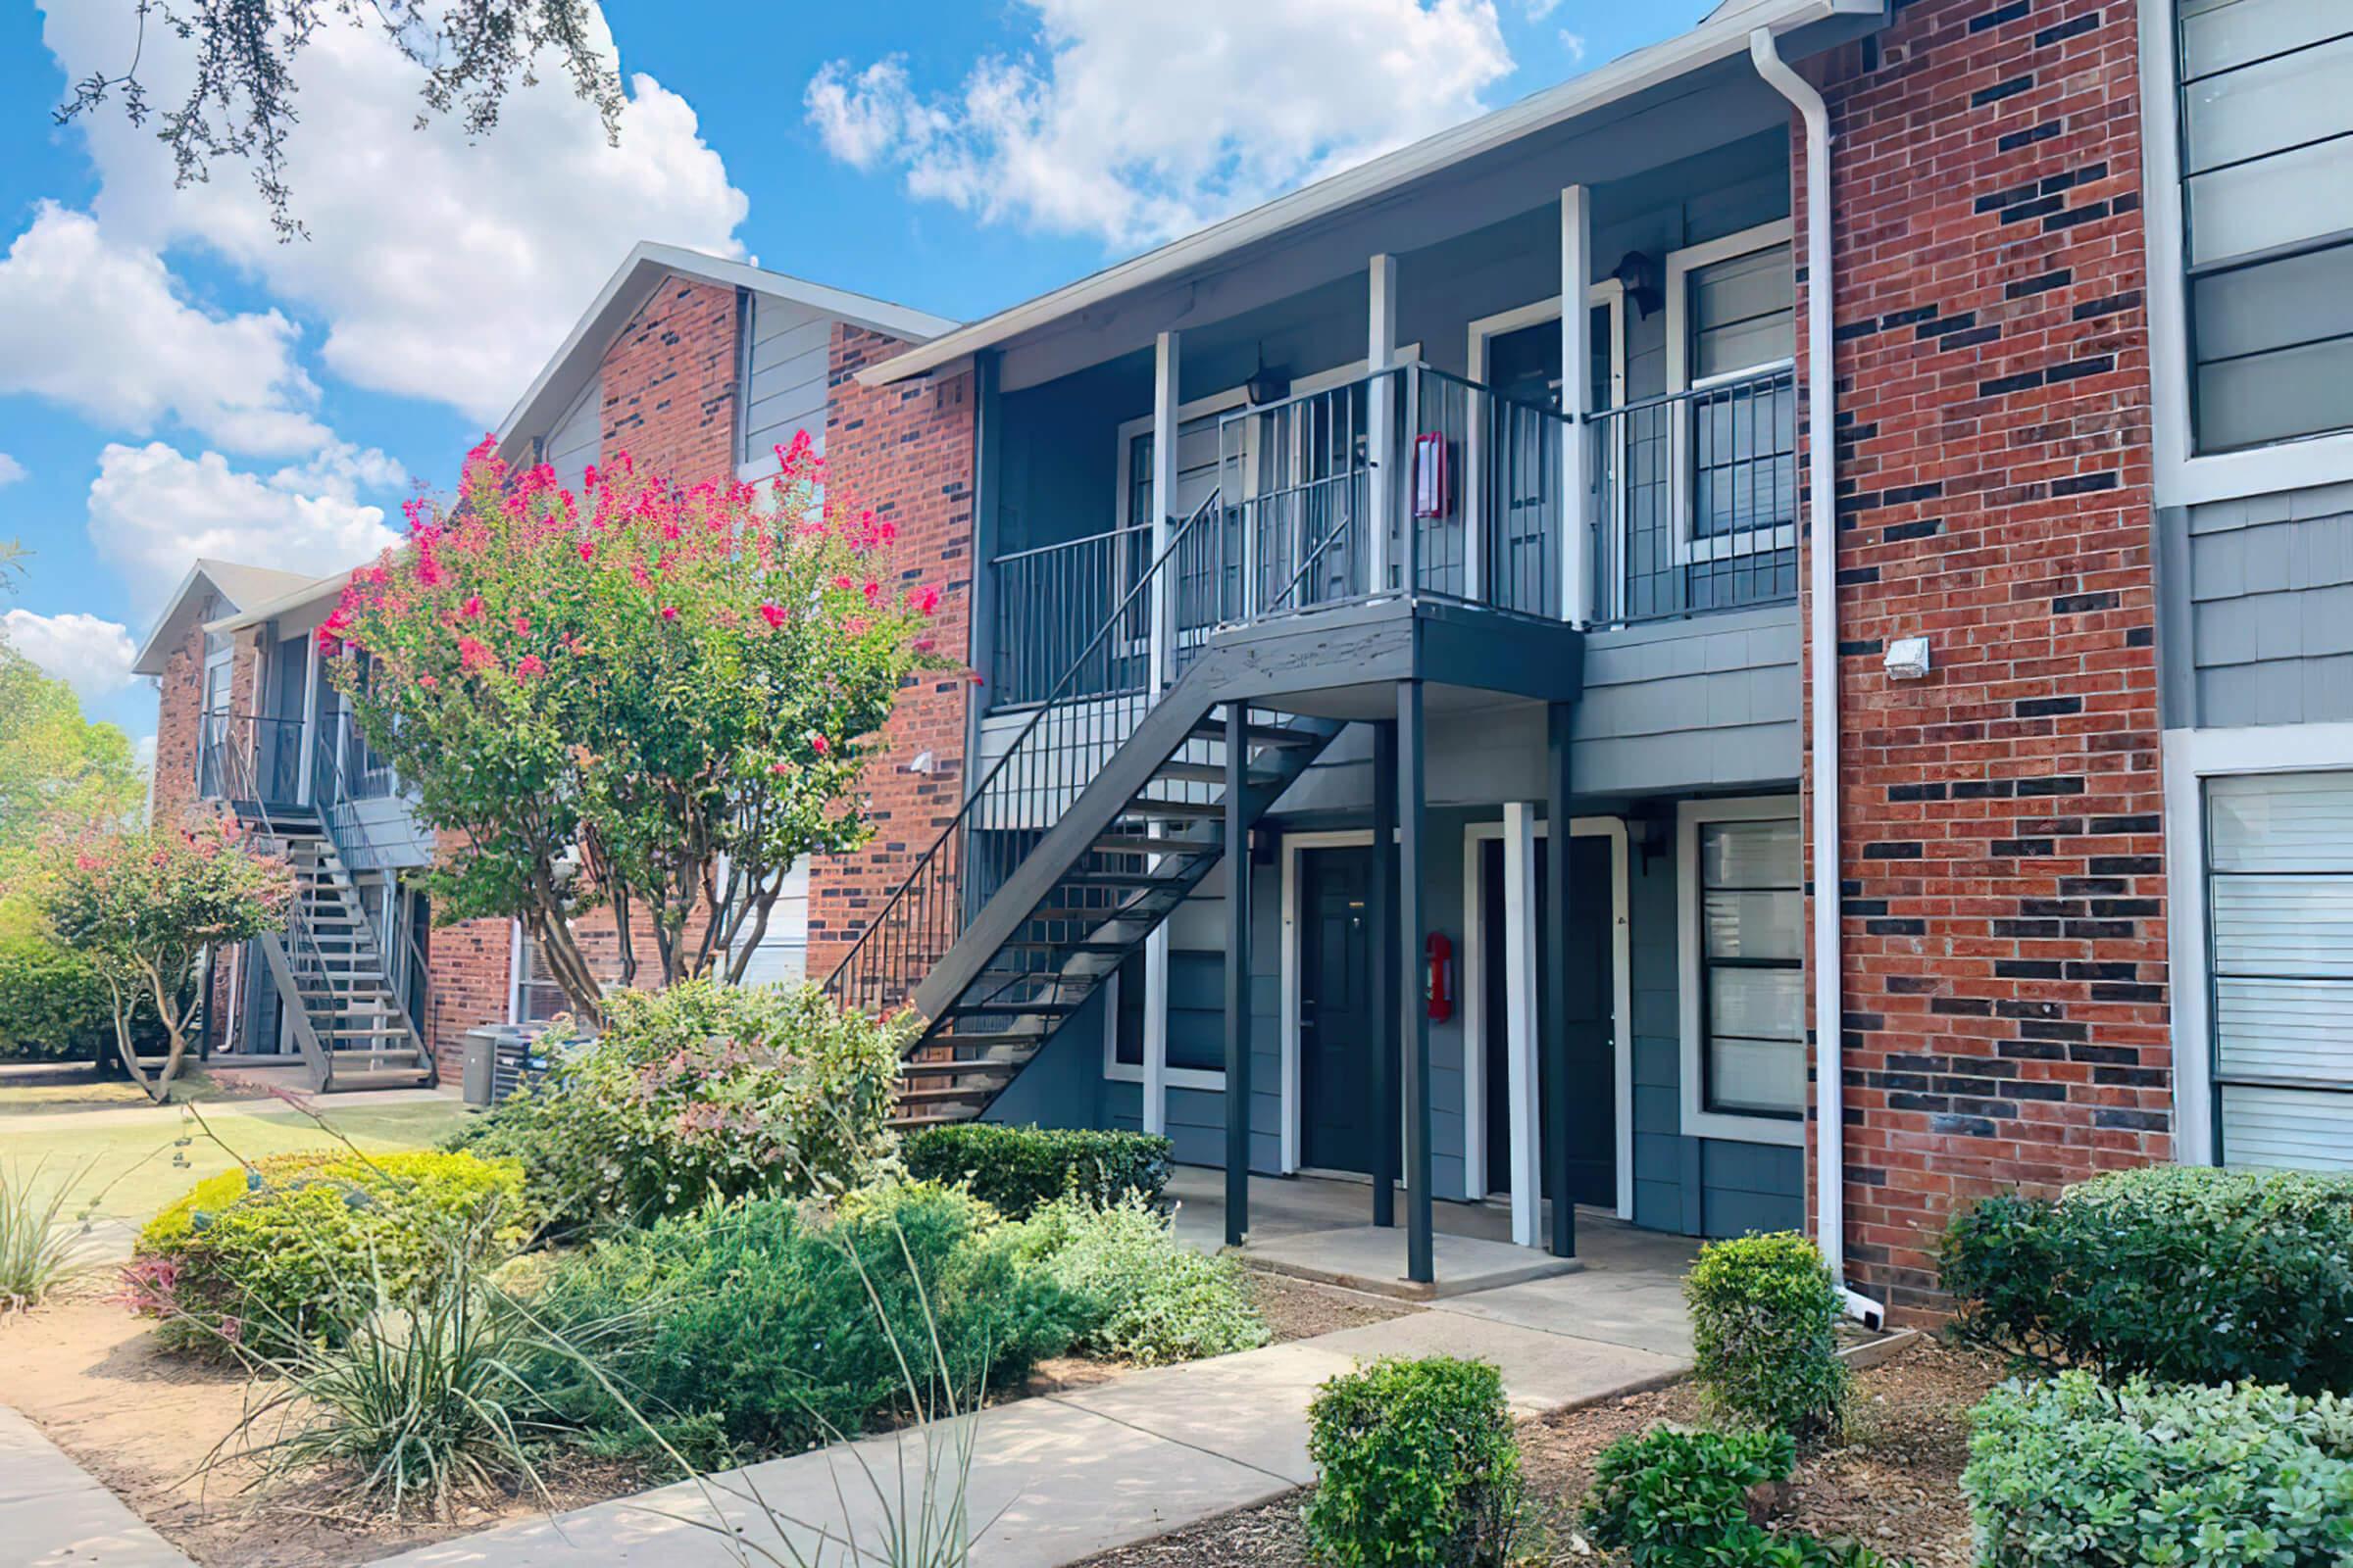
[[[2165,512],[2167,724],[2353,719],[2353,484]]]

